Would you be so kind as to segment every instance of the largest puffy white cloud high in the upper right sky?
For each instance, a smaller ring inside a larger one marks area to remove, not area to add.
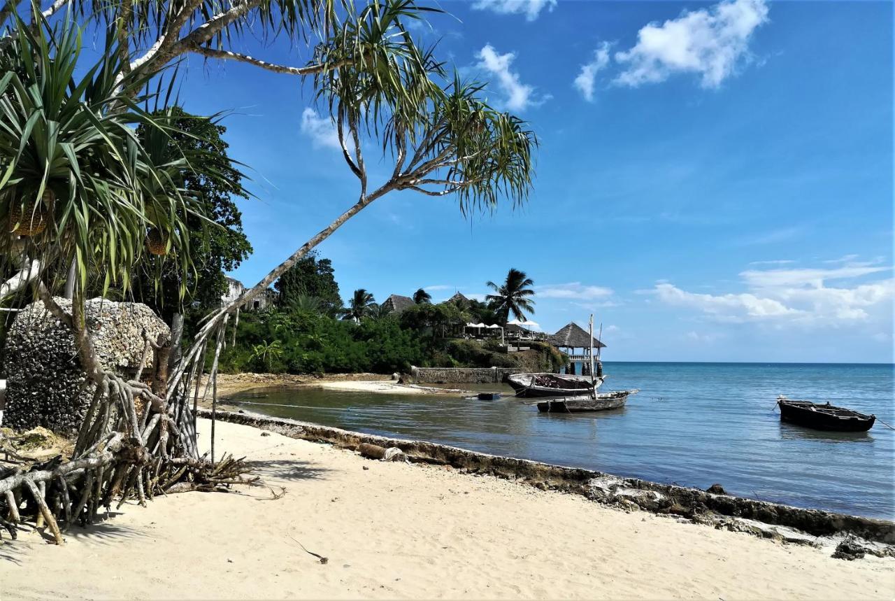
[[[616,53],[626,69],[615,82],[627,86],[664,82],[675,73],[701,75],[704,88],[717,88],[750,58],[749,39],[768,21],[764,0],[726,0],[685,12],[637,33],[637,44]]]

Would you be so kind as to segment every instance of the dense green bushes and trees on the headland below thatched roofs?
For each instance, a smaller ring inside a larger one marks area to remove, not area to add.
[[[520,273],[513,270],[515,273]],[[524,274],[523,279],[524,278]],[[433,305],[414,294],[416,305],[400,313],[379,305],[370,292],[354,290],[345,307],[338,298],[332,264],[306,258],[277,282],[277,306],[242,314],[221,356],[221,370],[272,373],[391,373],[411,365],[438,367],[529,367],[554,370],[564,357],[533,343],[527,355],[507,354],[499,339],[464,339],[467,322],[499,323],[493,303],[457,298]],[[326,300],[314,293],[325,293]],[[341,317],[341,319],[339,319]],[[528,363],[523,365],[523,362]]]

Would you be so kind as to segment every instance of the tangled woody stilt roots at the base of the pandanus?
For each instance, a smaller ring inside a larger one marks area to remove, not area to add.
[[[12,468],[0,462],[0,534],[15,537],[18,524],[32,522],[36,528],[46,526],[55,543],[62,544],[65,529],[95,522],[99,511],[109,511],[113,502],[119,507],[128,500],[142,505],[157,494],[219,491],[257,481],[247,476],[250,470],[243,459],[225,455],[213,462],[199,456],[190,392],[195,380],[198,397],[201,365],[191,363],[188,377],[176,372],[182,369],[178,365],[171,378],[170,341],[147,338],[143,358],[145,363],[152,353],[152,369],[144,373],[141,363],[137,377],[124,380],[99,363],[77,292],[71,315],[42,284],[38,296],[72,329],[81,367],[96,392],[71,457],[34,463],[17,456]],[[219,326],[216,366],[225,326]],[[204,348],[200,356],[204,361]],[[217,392],[214,377],[211,381]]]

